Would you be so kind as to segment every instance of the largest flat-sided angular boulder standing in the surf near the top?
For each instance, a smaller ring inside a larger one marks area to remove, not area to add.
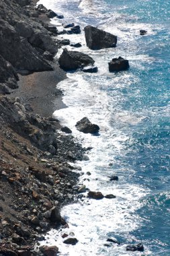
[[[93,26],[85,27],[86,44],[91,50],[99,50],[105,48],[116,47],[117,36],[99,30]]]

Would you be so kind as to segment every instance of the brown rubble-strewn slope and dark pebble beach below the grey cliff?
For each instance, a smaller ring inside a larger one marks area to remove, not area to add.
[[[44,255],[43,249],[35,252],[34,245],[50,228],[67,225],[60,207],[77,194],[73,186],[79,174],[67,162],[81,160],[84,150],[72,135],[56,131],[61,126],[52,114],[67,107],[56,85],[66,73],[54,61],[50,65],[53,71],[18,74],[18,88],[9,96],[0,95],[0,253],[4,255]]]

